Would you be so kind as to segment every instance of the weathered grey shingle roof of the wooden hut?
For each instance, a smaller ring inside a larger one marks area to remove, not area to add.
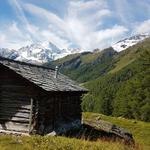
[[[15,71],[45,91],[87,91],[61,73],[58,73],[57,78],[55,78],[55,70],[51,68],[14,61],[3,57],[0,57],[0,64]]]

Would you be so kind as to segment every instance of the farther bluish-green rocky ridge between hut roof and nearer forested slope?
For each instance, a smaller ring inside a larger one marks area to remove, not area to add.
[[[83,52],[45,64],[59,66],[59,71],[77,82],[95,79],[111,69],[113,57],[117,55],[111,47],[98,52]]]

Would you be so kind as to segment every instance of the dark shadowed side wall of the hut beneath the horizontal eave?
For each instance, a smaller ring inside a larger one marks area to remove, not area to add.
[[[47,133],[62,122],[81,120],[81,94],[55,92],[42,95],[39,101],[39,131]]]

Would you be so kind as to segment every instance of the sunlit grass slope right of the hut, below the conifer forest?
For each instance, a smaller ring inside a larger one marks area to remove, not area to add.
[[[136,143],[142,145],[144,150],[150,149],[150,123],[88,112],[84,113],[83,117],[92,120],[96,117],[100,117],[102,120],[110,121],[120,127],[128,129],[133,134]]]

